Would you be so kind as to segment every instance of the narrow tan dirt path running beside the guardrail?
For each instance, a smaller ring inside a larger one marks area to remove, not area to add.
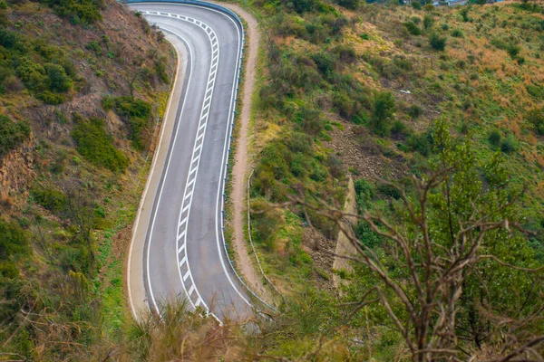
[[[253,265],[253,259],[244,238],[244,230],[248,225],[246,208],[246,187],[248,186],[248,126],[251,118],[251,96],[253,95],[255,85],[260,34],[258,33],[257,20],[242,7],[227,3],[218,4],[236,12],[246,22],[246,39],[248,41],[248,48],[245,54],[244,85],[240,105],[241,113],[238,119],[238,138],[234,155],[234,167],[232,168],[231,200],[233,207],[232,224],[234,229],[232,245],[234,245],[234,251],[236,252],[238,273],[248,283],[249,288],[255,291],[260,298],[270,300],[269,291],[263,284],[262,275]]]

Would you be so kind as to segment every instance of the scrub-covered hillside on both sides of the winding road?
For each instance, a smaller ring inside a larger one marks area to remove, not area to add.
[[[167,44],[121,5],[0,5],[0,358],[544,353],[539,5],[245,3],[252,237],[281,296],[223,327],[183,302],[135,323],[123,301]]]

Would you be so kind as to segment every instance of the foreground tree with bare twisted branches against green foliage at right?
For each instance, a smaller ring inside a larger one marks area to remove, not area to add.
[[[414,361],[544,360],[544,267],[505,262],[504,255],[495,252],[512,241],[516,242],[512,245],[523,245],[517,242],[529,233],[516,221],[513,207],[523,192],[506,192],[500,162],[491,162],[488,169],[496,179],[481,186],[470,145],[452,147],[447,125],[439,123],[437,127],[434,137],[439,162],[432,175],[423,179],[413,176],[411,193],[383,181],[399,195],[393,219],[373,211],[345,214],[322,200],[308,201],[300,195],[280,206],[302,206],[306,218],[306,210],[323,215],[347,235],[356,252],[338,256],[362,265],[377,281],[349,303],[354,307],[352,316],[379,303],[403,336]],[[347,230],[346,216],[368,224],[379,235],[387,253],[385,260]],[[480,345],[473,338],[461,340],[459,319],[466,309],[460,303],[463,292],[493,288],[495,281],[484,281],[481,274],[499,268],[520,273],[520,284],[527,288],[508,285],[510,292],[517,294],[512,306],[500,305],[489,291],[482,292],[486,298],[466,296],[483,334]]]

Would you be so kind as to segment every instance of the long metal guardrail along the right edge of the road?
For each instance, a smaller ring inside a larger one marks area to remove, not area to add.
[[[212,4],[212,3],[207,3],[205,1],[199,1],[199,0],[124,0],[124,1],[121,1],[122,4],[139,4],[139,3],[167,3],[167,4],[180,4],[180,5],[196,5],[196,6],[202,6],[202,7],[207,7],[207,8],[210,8],[210,9],[214,9],[214,10],[218,10],[219,12],[222,12],[222,13],[225,13],[225,14],[228,14],[230,16],[232,16],[239,24],[240,26],[240,29],[242,30],[242,42],[240,44],[240,57],[238,59],[238,81],[237,81],[237,87],[236,87],[236,90],[235,90],[235,96],[234,96],[234,100],[235,100],[235,103],[234,103],[234,106],[233,106],[233,114],[232,114],[232,123],[230,124],[230,129],[228,131],[228,154],[227,154],[227,160],[226,160],[226,167],[225,167],[225,177],[224,177],[224,183],[223,183],[223,190],[222,190],[222,193],[223,193],[223,197],[222,197],[222,200],[221,200],[221,232],[223,233],[223,231],[225,230],[225,225],[224,225],[224,222],[225,222],[225,198],[226,198],[226,194],[225,194],[225,187],[227,186],[227,180],[228,180],[228,157],[230,155],[230,141],[232,139],[232,130],[234,129],[234,123],[235,123],[235,117],[236,117],[236,105],[237,105],[237,102],[238,102],[238,85],[240,84],[241,82],[241,71],[242,71],[242,61],[244,59],[244,45],[246,44],[246,31],[244,30],[244,24],[242,24],[242,20],[238,17],[238,14],[234,13],[232,10],[224,7],[224,6],[221,6],[221,5],[217,5],[217,4]],[[246,290],[251,294],[253,295],[260,303],[262,303],[264,306],[266,306],[268,309],[270,310],[274,310],[274,311],[277,311],[276,308],[274,308],[273,306],[271,306],[270,304],[268,304],[265,300],[262,300],[255,291],[252,291],[249,287],[248,287],[248,284],[246,284],[246,282],[242,279],[242,277],[238,274],[238,271],[236,271],[236,268],[234,267],[234,261],[232,259],[230,259],[230,255],[228,254],[228,244],[227,244],[227,241],[225,240],[225,235],[223,234],[223,245],[225,247],[225,253],[227,254],[227,258],[228,258],[228,262],[232,268],[232,271],[234,271],[234,273],[236,274],[237,278],[238,278],[238,281],[240,281],[240,283],[242,283],[242,285],[244,286],[244,288],[246,288]]]

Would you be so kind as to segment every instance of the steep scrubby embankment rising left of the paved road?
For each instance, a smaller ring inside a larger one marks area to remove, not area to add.
[[[111,353],[174,65],[163,35],[117,2],[0,2],[1,351]]]

